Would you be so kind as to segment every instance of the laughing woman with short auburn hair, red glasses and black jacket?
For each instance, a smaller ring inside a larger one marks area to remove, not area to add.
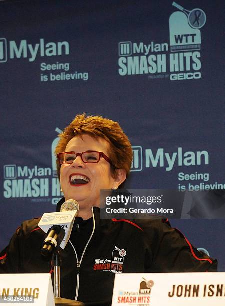
[[[115,273],[216,270],[216,260],[199,253],[166,220],[100,219],[100,189],[119,188],[132,161],[131,144],[117,122],[77,115],[60,135],[56,154],[64,193],[57,210],[67,199],[80,205],[70,241],[61,250],[62,297],[110,304]],[[17,230],[0,254],[2,272],[51,269],[40,255],[45,234],[38,222],[26,221]]]

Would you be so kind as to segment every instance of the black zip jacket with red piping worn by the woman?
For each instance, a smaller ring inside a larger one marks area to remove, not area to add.
[[[61,250],[61,297],[110,304],[115,273],[216,270],[217,261],[198,252],[166,220],[100,220],[99,208],[92,209],[93,219],[80,226],[76,222]],[[37,226],[39,220],[25,221],[16,230],[0,253],[1,273],[52,271],[51,260],[40,254],[46,234]]]

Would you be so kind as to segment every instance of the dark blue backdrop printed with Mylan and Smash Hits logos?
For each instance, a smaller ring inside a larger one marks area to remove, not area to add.
[[[127,187],[225,188],[223,11],[221,0],[0,1],[0,249],[55,210],[53,151],[77,113],[121,124]],[[172,225],[225,271],[223,219]]]

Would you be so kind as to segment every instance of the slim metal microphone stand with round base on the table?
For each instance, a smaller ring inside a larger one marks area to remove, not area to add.
[[[57,248],[53,251],[52,261],[54,265],[54,297],[55,297],[55,305],[57,306],[83,306],[84,303],[60,297],[60,266],[61,266],[61,256],[59,250]]]

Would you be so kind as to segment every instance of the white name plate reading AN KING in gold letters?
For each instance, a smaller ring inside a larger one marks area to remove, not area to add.
[[[0,304],[55,306],[50,274],[0,274]]]

